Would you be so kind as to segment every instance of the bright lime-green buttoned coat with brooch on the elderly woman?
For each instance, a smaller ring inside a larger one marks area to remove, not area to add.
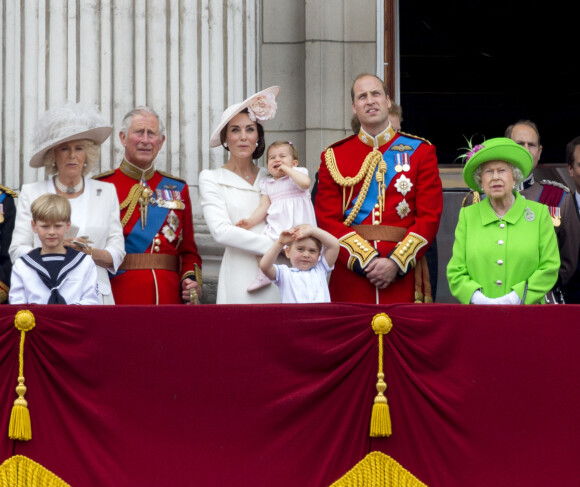
[[[515,291],[525,304],[543,302],[558,277],[560,254],[548,207],[516,193],[500,220],[489,198],[462,208],[447,266],[451,294],[468,304],[480,289],[488,298]]]

